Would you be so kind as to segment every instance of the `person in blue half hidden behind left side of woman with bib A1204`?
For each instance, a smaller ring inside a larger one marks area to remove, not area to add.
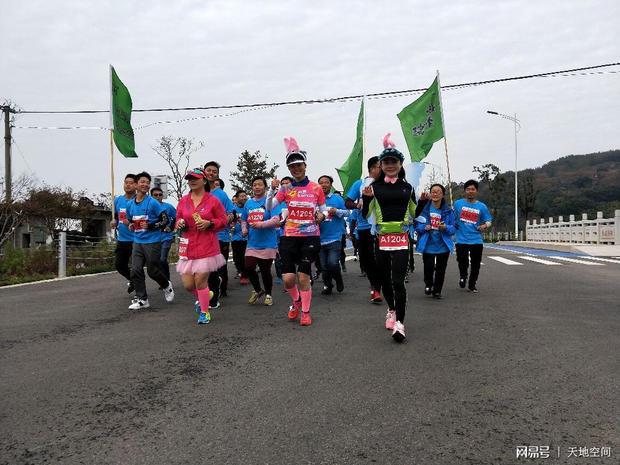
[[[381,174],[379,157],[371,157],[368,160],[368,177],[359,179],[347,192],[345,201],[346,208],[351,210],[362,208],[362,189],[374,182]],[[383,302],[381,297],[381,276],[379,275],[375,260],[375,236],[371,224],[359,215],[357,217],[357,235],[360,257],[360,270],[366,274],[370,283],[370,301],[373,303]]]

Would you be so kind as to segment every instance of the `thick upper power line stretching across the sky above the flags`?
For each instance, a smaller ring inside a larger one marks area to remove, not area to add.
[[[532,79],[539,77],[568,77],[575,75],[585,75],[585,74],[607,74],[607,73],[616,73],[617,71],[606,71],[606,72],[598,72],[598,73],[579,73],[580,71],[590,71],[593,69],[600,68],[608,68],[612,66],[618,66],[620,62],[617,63],[606,63],[595,66],[586,66],[583,68],[574,68],[574,69],[565,69],[561,71],[549,71],[545,73],[536,73],[536,74],[527,74],[523,76],[513,76],[507,78],[499,78],[499,79],[489,79],[486,81],[474,81],[474,82],[465,82],[460,84],[450,84],[442,86],[442,90],[450,90],[450,89],[461,89],[465,87],[472,86],[481,86],[487,84],[495,84],[495,83],[503,83],[510,81],[519,81],[523,79]],[[372,94],[362,94],[362,95],[349,95],[343,97],[332,97],[325,99],[311,99],[311,100],[288,100],[282,102],[271,102],[271,103],[249,103],[249,104],[241,104],[241,105],[215,105],[215,106],[201,106],[201,107],[172,107],[172,108],[149,108],[149,109],[135,109],[132,110],[134,113],[148,113],[148,112],[162,112],[162,111],[196,111],[196,110],[229,110],[229,109],[240,109],[240,108],[255,108],[255,107],[275,107],[275,106],[284,106],[284,105],[310,105],[310,104],[321,104],[321,103],[334,103],[334,102],[343,102],[349,100],[359,100],[362,97],[366,98],[386,98],[386,97],[395,97],[401,96],[411,93],[424,92],[427,88],[419,88],[419,89],[407,89],[407,90],[397,90],[397,91],[389,91],[389,92],[378,92]],[[94,113],[109,113],[109,110],[19,110],[17,113],[21,114],[94,114]],[[59,128],[60,129],[60,128]]]

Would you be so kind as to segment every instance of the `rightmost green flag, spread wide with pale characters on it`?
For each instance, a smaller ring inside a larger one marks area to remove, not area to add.
[[[439,92],[439,81],[435,78],[420,98],[398,114],[411,161],[421,161],[443,137]]]

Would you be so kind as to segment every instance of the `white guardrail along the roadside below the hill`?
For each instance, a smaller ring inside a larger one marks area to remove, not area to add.
[[[575,215],[570,215],[568,221],[562,216],[557,222],[553,217],[547,222],[544,218],[538,223],[528,220],[525,230],[527,240],[532,242],[620,245],[620,210],[614,212],[613,218],[603,218],[603,212],[597,212],[593,220],[588,219],[587,213],[580,220],[575,220]]]

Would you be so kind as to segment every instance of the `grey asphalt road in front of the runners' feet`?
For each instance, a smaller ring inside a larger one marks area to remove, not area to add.
[[[0,463],[619,463],[620,264],[487,252],[523,263],[485,256],[474,295],[452,257],[442,301],[416,257],[402,345],[355,262],[308,328],[235,280],[207,326],[178,277],[140,313],[115,274],[0,289]]]

